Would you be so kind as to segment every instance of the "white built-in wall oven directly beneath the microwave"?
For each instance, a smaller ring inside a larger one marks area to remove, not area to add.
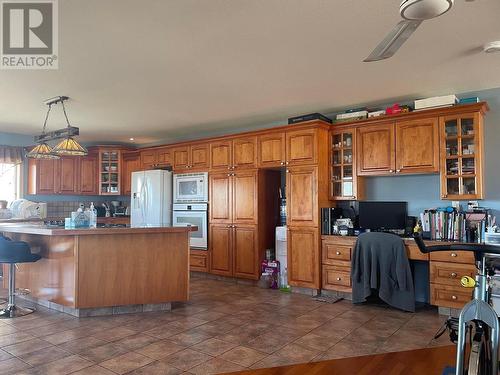
[[[190,232],[189,246],[200,250],[208,248],[207,203],[174,203],[173,225],[184,227],[196,225],[198,230]]]

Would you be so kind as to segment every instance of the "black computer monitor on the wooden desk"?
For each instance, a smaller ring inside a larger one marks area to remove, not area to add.
[[[359,202],[359,227],[370,230],[405,229],[406,202]]]

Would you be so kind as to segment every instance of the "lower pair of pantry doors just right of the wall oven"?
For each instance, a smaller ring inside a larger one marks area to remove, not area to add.
[[[210,272],[258,280],[259,254],[254,225],[210,225]]]

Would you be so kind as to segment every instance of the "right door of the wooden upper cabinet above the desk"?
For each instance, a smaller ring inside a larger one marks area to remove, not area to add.
[[[439,172],[436,117],[396,122],[396,173]]]

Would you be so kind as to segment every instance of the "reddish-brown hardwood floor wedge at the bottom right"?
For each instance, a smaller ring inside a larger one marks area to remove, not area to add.
[[[454,367],[456,347],[442,346],[335,359],[294,366],[249,370],[234,375],[440,375],[446,367]],[[230,374],[228,374],[230,375]]]

